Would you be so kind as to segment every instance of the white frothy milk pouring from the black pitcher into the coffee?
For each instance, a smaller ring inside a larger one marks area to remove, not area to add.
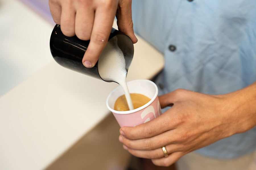
[[[126,83],[125,58],[117,45],[116,37],[113,37],[103,49],[98,60],[98,71],[103,80],[117,82],[123,88],[129,109],[133,110],[133,103]]]

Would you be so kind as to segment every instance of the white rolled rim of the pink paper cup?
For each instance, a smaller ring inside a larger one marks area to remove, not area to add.
[[[134,112],[140,111],[140,110],[142,110],[142,109],[148,107],[148,106],[156,99],[156,97],[158,96],[158,88],[157,88],[156,84],[155,84],[154,82],[152,82],[151,80],[148,80],[148,79],[136,79],[136,80],[131,80],[131,81],[129,81],[129,82],[138,81],[138,80],[140,80],[140,81],[141,81],[141,80],[147,81],[147,82],[149,82],[150,84],[152,84],[152,85],[155,87],[156,92],[155,92],[154,96],[152,97],[152,99],[151,99],[148,103],[146,103],[145,105],[143,105],[143,106],[141,106],[141,107],[138,107],[137,109],[133,109],[133,110],[129,110],[129,111],[116,111],[116,110],[110,108],[110,106],[108,105],[108,100],[109,100],[109,98],[110,98],[110,95],[120,86],[120,85],[119,85],[119,86],[117,86],[114,90],[112,90],[112,91],[110,92],[110,94],[108,95],[107,100],[106,100],[106,105],[107,105],[108,109],[109,109],[112,113],[115,113],[115,114],[130,114],[130,113],[134,113]],[[128,82],[127,82],[127,83],[128,83]]]

